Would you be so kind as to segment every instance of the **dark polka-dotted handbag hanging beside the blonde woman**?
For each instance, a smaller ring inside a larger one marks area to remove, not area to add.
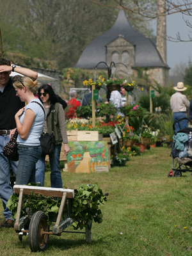
[[[16,129],[12,139],[8,143],[6,143],[3,149],[4,156],[6,156],[8,159],[12,161],[19,160],[19,154],[17,151],[17,136],[18,136],[18,131]]]

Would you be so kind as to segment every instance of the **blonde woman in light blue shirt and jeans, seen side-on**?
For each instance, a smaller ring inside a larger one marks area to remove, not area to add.
[[[15,184],[28,185],[29,182],[35,182],[35,164],[42,154],[39,138],[45,120],[44,106],[34,95],[37,81],[26,76],[19,77],[13,86],[20,100],[27,103],[15,114],[19,133],[17,137],[19,163]],[[10,138],[14,132],[15,129],[10,132]]]

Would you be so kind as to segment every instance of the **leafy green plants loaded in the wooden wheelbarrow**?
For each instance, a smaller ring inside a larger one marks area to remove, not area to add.
[[[35,184],[33,184],[35,186]],[[102,212],[99,209],[101,204],[106,201],[102,189],[97,184],[81,185],[75,189],[75,197],[72,200],[71,218],[74,219],[72,227],[74,229],[88,227],[90,221],[97,223],[102,222]],[[19,195],[13,194],[8,200],[6,206],[12,211],[13,218],[17,216]],[[26,216],[26,209],[31,209],[33,214],[36,211],[43,211],[47,216],[47,221],[51,224],[60,209],[61,198],[53,198],[51,196],[35,195],[31,191],[31,195],[24,195],[20,218]],[[67,214],[67,209],[63,211],[63,219]]]

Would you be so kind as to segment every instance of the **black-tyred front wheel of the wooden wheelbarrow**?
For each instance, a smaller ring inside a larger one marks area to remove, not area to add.
[[[44,212],[38,211],[33,214],[29,224],[29,246],[31,252],[44,251],[49,241],[49,225]]]

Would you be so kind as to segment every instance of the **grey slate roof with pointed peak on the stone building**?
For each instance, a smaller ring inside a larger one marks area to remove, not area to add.
[[[146,38],[131,27],[124,10],[120,10],[115,24],[106,33],[95,38],[84,49],[81,57],[77,61],[75,68],[95,68],[100,62],[107,62],[107,48],[119,35],[125,40],[135,45],[134,66],[132,67],[167,67],[159,52],[157,51],[155,40]],[[99,65],[98,68],[105,68],[106,65]]]

